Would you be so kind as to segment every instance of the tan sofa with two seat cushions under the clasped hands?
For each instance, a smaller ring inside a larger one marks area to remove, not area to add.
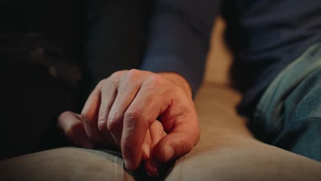
[[[217,19],[204,82],[195,97],[200,142],[189,154],[167,167],[161,179],[279,180],[285,177],[292,180],[291,169],[279,171],[282,168],[275,169],[274,165],[280,165],[280,158],[292,160],[294,154],[257,141],[246,128],[246,118],[235,110],[241,93],[230,86],[233,56],[224,45],[223,32],[224,21]],[[286,162],[289,167],[295,164],[295,161]],[[317,172],[316,165],[309,170]],[[49,149],[3,160],[0,171],[0,180],[154,180],[125,171],[117,154],[78,147]]]

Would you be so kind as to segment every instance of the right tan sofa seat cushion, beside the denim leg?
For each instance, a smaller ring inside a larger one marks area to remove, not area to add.
[[[201,139],[166,180],[320,180],[321,163],[254,139],[237,115],[240,95],[204,84],[195,99]]]

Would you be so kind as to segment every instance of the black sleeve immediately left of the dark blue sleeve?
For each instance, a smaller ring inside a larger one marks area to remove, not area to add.
[[[85,0],[84,67],[94,86],[111,73],[138,68],[143,58],[150,1]]]

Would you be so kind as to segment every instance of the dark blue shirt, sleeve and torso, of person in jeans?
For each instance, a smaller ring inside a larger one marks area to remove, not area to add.
[[[141,69],[179,73],[195,93],[219,14],[228,25],[235,64],[241,65],[236,76],[247,80],[239,112],[249,115],[273,78],[321,40],[321,1],[158,0]]]

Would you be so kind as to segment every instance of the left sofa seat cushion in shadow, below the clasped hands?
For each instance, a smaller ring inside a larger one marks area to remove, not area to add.
[[[0,180],[134,180],[119,156],[73,147],[3,160],[0,169]]]

